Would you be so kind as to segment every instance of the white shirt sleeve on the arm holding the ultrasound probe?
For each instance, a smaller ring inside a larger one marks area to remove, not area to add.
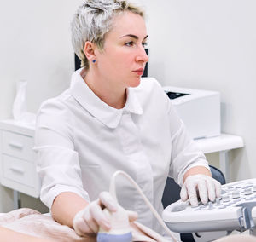
[[[61,101],[46,101],[37,117],[35,147],[41,180],[40,199],[51,208],[56,196],[73,192],[89,201],[83,188],[79,155],[73,145],[72,115]]]

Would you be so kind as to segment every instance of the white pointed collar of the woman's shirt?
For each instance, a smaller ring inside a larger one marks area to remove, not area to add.
[[[84,70],[81,68],[73,73],[70,84],[71,95],[83,106],[92,116],[97,118],[109,128],[116,128],[119,125],[123,112],[131,112],[137,115],[143,114],[143,108],[137,99],[135,89],[128,88],[125,107],[116,109],[108,106],[102,101],[84,82]],[[83,77],[82,77],[83,76]]]

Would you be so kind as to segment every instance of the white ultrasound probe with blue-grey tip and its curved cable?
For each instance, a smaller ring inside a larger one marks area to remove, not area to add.
[[[177,240],[173,237],[171,231],[167,228],[165,222],[163,222],[163,220],[161,219],[157,211],[154,210],[153,205],[150,204],[147,197],[143,194],[143,191],[141,190],[141,188],[138,187],[137,183],[134,182],[131,176],[127,175],[124,171],[121,171],[121,170],[116,171],[113,174],[112,179],[110,181],[109,193],[111,193],[111,195],[113,196],[113,199],[115,199],[118,202],[116,197],[115,178],[116,176],[119,176],[119,175],[125,176],[125,178],[127,178],[128,181],[131,182],[131,184],[137,189],[137,192],[141,194],[144,202],[146,203],[146,205],[148,205],[149,209],[153,212],[158,222],[160,222],[161,226],[166,230],[166,233],[173,239],[173,242],[177,242]],[[115,241],[130,242],[131,228],[130,228],[128,216],[125,210],[119,207],[119,209],[115,213],[110,213],[106,209],[103,211],[110,218],[112,229],[110,229],[110,231],[104,231],[102,230],[102,228],[100,228],[99,233],[97,234],[97,242],[115,242]],[[162,242],[165,242],[165,241],[162,241]]]

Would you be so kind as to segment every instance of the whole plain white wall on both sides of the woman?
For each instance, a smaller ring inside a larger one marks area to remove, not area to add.
[[[31,112],[67,88],[73,72],[69,24],[81,2],[0,2],[1,119],[11,117],[15,82],[20,79],[28,81]],[[220,91],[222,130],[241,135],[246,143],[231,153],[231,178],[255,177],[256,2],[143,2],[148,10],[149,75],[163,85]],[[9,198],[9,192],[2,192],[2,198]],[[24,204],[31,204],[24,197]]]

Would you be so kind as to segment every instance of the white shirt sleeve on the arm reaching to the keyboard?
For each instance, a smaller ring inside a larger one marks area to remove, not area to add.
[[[168,114],[171,120],[172,158],[169,176],[182,186],[183,176],[195,166],[204,166],[210,170],[207,159],[195,141],[189,136],[183,121],[169,101]]]

